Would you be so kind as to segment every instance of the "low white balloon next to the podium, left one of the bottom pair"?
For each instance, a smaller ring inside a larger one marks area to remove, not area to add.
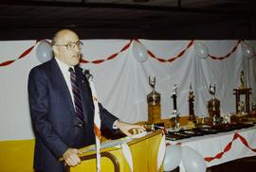
[[[174,170],[181,161],[181,146],[166,146],[163,163],[164,171]]]

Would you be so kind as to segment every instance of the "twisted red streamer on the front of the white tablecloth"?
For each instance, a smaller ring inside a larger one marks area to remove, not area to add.
[[[233,144],[233,142],[239,138],[240,141],[245,145],[247,146],[247,148],[251,149],[252,151],[256,152],[256,148],[252,148],[251,146],[248,145],[247,143],[247,139],[245,139],[242,135],[238,134],[238,133],[234,133],[233,135],[233,139],[231,142],[229,142],[229,144],[227,146],[225,146],[224,150],[222,152],[219,152],[217,153],[214,157],[205,157],[205,161],[207,162],[211,162],[213,161],[214,159],[221,159],[222,156],[228,152]]]

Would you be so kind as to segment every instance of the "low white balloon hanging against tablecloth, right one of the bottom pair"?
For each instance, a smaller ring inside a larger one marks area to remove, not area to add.
[[[204,157],[189,146],[182,146],[182,163],[187,172],[205,172]]]

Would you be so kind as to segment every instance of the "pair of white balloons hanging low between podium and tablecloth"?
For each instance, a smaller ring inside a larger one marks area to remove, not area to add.
[[[187,172],[206,172],[204,158],[189,146],[167,146],[163,162],[164,171],[174,170],[182,161]]]

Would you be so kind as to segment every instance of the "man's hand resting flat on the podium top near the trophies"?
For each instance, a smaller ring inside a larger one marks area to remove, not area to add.
[[[146,130],[142,126],[125,123],[122,121],[117,121],[116,126],[127,136],[132,136]]]

